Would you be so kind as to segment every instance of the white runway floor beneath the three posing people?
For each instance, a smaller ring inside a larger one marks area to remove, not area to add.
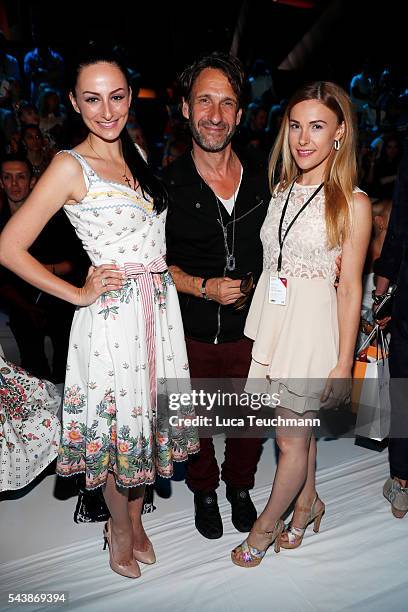
[[[7,333],[1,342],[13,359]],[[215,442],[221,462],[223,438]],[[274,444],[268,440],[252,493],[258,510],[268,498],[274,469]],[[279,555],[270,550],[251,569],[230,561],[243,534],[231,524],[224,484],[218,490],[224,536],[206,540],[194,528],[193,496],[184,481],[165,481],[169,496],[156,494],[157,510],[145,517],[158,561],[142,565],[137,580],[110,570],[102,524],[76,525],[76,499],[57,499],[55,476],[47,476],[0,497],[0,612],[405,612],[408,515],[393,518],[382,497],[387,475],[387,451],[370,451],[351,439],[320,440],[318,491],[326,503],[321,532],[309,528],[300,548]],[[68,594],[66,605],[7,603],[9,593],[61,591]]]

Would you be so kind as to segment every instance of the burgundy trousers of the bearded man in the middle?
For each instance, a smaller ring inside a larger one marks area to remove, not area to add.
[[[186,338],[191,378],[246,378],[252,341],[209,344]],[[236,488],[252,489],[261,454],[260,438],[226,438],[222,480]],[[212,438],[200,438],[200,452],[187,463],[187,485],[192,491],[210,491],[220,483]]]

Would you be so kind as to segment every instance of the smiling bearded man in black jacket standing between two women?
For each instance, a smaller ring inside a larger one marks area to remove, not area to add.
[[[183,115],[192,150],[164,171],[170,204],[167,263],[179,291],[192,378],[245,378],[252,343],[244,337],[247,308],[241,279],[262,271],[259,231],[269,203],[265,163],[238,155],[231,139],[241,118],[244,73],[233,56],[212,53],[180,78]],[[189,461],[187,484],[194,492],[195,524],[207,538],[223,533],[217,494],[219,468],[211,438]],[[261,440],[226,439],[221,478],[232,506],[232,522],[247,532],[256,520],[249,495]]]

